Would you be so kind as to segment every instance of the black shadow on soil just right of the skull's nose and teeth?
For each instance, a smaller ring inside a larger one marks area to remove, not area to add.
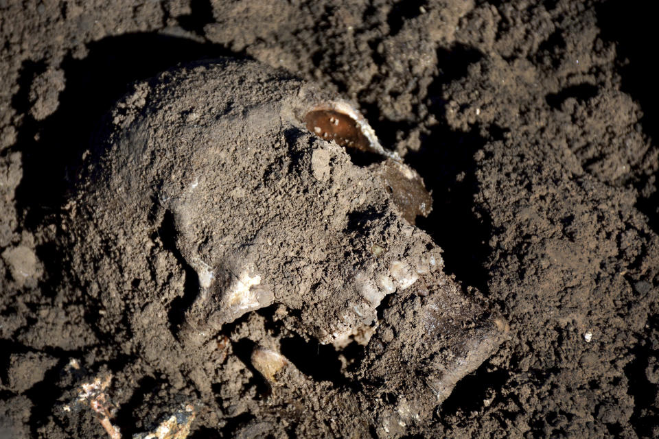
[[[454,131],[446,120],[442,87],[465,77],[470,64],[483,55],[470,47],[456,45],[450,51],[437,51],[438,75],[428,87],[428,110],[439,123],[421,135],[421,147],[410,151],[405,161],[424,178],[432,191],[432,212],[417,218],[417,226],[426,230],[444,250],[446,272],[455,274],[464,285],[472,285],[487,294],[488,274],[485,261],[489,255],[489,219],[474,204],[478,191],[474,154],[500,133],[483,137],[481,130]],[[397,132],[410,132],[415,124],[380,119],[377,106],[368,106],[369,122],[386,147],[394,147]]]

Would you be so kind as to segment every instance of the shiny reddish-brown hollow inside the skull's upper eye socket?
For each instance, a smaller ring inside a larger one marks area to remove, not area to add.
[[[371,142],[362,132],[357,121],[336,110],[312,110],[304,121],[307,129],[327,141],[334,140],[341,146],[373,152]]]

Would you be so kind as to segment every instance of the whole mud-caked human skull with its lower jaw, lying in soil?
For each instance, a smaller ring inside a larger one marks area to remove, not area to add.
[[[367,345],[359,374],[384,384],[365,394],[406,395],[383,408],[383,431],[431,416],[498,345],[414,225],[431,209],[423,180],[315,84],[235,60],[165,72],[117,104],[94,145],[69,230],[73,259],[95,268],[79,276],[100,327],[152,304],[188,352],[277,305],[287,330]]]

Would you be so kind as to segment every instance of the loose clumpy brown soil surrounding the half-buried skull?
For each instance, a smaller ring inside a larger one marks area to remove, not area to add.
[[[107,3],[0,0],[0,437],[106,437],[90,413],[61,415],[80,379],[102,371],[118,377],[115,420],[127,437],[181,395],[207,398],[143,366],[132,344],[116,344],[126,331],[149,335],[136,324],[143,310],[126,309],[122,326],[105,327],[93,294],[73,286],[61,243],[73,176],[103,115],[136,81],[218,56],[281,67],[356,102],[432,189],[434,210],[417,225],[443,249],[445,270],[509,322],[498,352],[414,434],[659,436],[659,101],[649,6]],[[277,309],[223,329],[286,330]],[[352,385],[360,348],[286,340],[282,353],[306,391]],[[213,401],[201,401],[220,408],[201,410],[190,437],[267,433],[253,409],[266,390],[246,366],[249,351],[228,348],[227,375],[211,386]],[[86,375],[71,371],[71,359]],[[322,419],[322,409],[309,416]]]

